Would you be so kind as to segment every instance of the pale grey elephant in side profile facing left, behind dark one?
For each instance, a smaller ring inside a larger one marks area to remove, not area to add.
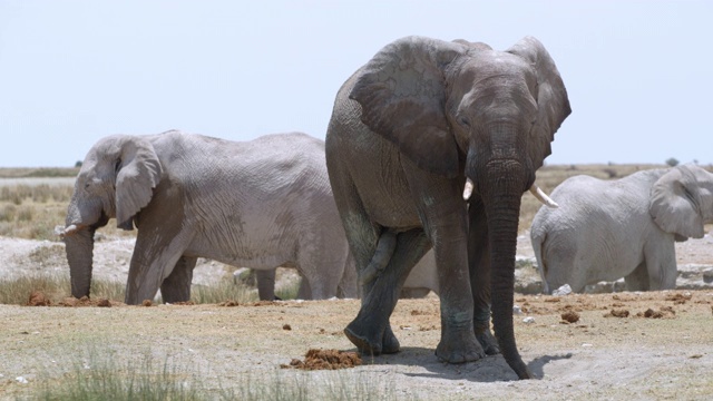
[[[166,302],[187,301],[197,257],[296,267],[314,299],[335,296],[353,270],[324,143],[305,134],[244,143],[176,130],[100,139],[82,163],[61,233],[76,297],[89,295],[94,233],[114,217],[138,229],[127,304],[153,300],[159,287]],[[356,296],[349,291],[342,295]]]

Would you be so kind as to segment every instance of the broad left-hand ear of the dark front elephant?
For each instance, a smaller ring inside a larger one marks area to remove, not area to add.
[[[399,39],[362,67],[350,99],[361,120],[417,166],[456,177],[458,145],[445,113],[445,68],[467,47],[423,37]]]

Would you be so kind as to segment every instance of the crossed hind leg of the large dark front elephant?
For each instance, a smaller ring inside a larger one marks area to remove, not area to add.
[[[389,317],[395,307],[406,277],[428,252],[429,241],[422,229],[397,235],[397,245],[385,268],[363,285],[361,310],[344,329],[346,338],[368,355],[394,353],[400,350]]]

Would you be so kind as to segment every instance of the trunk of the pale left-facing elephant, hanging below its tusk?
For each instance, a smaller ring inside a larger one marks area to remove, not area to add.
[[[91,286],[91,268],[94,256],[95,228],[79,229],[66,235],[65,247],[67,262],[69,263],[69,276],[71,281],[71,295],[80,299],[89,296]]]

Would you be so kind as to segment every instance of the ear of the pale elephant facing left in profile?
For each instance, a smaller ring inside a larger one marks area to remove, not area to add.
[[[117,160],[116,221],[124,229],[133,228],[133,217],[152,199],[162,174],[154,146],[146,139],[131,136],[121,145]]]

